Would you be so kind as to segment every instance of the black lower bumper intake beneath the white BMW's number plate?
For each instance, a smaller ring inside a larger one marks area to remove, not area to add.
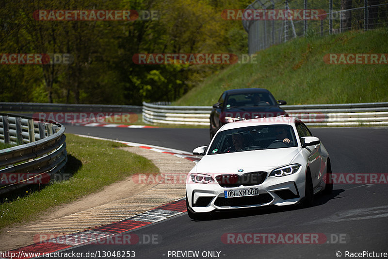
[[[239,206],[251,206],[266,204],[273,200],[272,196],[268,193],[262,193],[256,196],[234,197],[225,198],[218,197],[214,205],[218,207],[239,207]]]

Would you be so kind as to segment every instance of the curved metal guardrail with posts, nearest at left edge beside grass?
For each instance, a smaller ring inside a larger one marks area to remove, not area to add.
[[[67,162],[64,132],[65,127],[54,121],[0,113],[0,142],[19,144],[0,150],[0,194],[63,172]]]

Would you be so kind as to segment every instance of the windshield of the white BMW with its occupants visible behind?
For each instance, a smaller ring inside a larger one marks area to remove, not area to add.
[[[290,125],[251,126],[219,132],[211,143],[208,155],[296,146]]]

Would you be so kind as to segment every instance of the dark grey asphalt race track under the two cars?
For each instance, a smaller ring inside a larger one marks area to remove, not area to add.
[[[387,127],[312,128],[311,131],[322,140],[328,150],[333,173],[387,173]],[[92,128],[68,125],[66,133],[113,138],[189,152],[197,146],[209,144],[208,129]],[[89,244],[66,252],[99,251],[100,258],[104,258],[103,253],[107,251],[135,251],[135,258],[142,259],[334,259],[350,258],[354,255],[351,253],[368,251],[364,258],[372,258],[372,252],[388,253],[387,197],[387,184],[337,184],[331,196],[316,196],[313,207],[271,207],[223,212],[216,213],[208,221],[192,221],[183,213],[160,223],[129,231],[128,233],[139,236],[137,244]],[[234,233],[228,236],[230,239],[225,238],[228,233]],[[231,243],[238,240],[236,238],[239,233],[263,234],[261,241],[263,236],[278,233],[283,233],[283,237],[286,234],[297,236],[315,233],[325,235],[327,239],[319,244],[284,244],[278,239],[276,243],[265,244],[246,243],[252,242],[252,239],[247,239],[244,244]],[[153,244],[149,244],[148,237],[151,235],[156,237]],[[198,251],[199,254],[198,257],[193,257],[192,254],[178,251]],[[208,251],[213,253],[207,253]],[[110,255],[105,258],[118,258],[112,254],[105,255]]]

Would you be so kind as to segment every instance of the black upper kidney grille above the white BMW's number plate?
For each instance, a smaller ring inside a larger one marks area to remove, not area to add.
[[[221,175],[217,175],[215,178],[220,186],[230,188],[230,187],[239,187],[239,186],[258,185],[264,182],[266,177],[267,177],[267,172],[252,172],[252,173],[244,173],[242,175],[221,174]]]

